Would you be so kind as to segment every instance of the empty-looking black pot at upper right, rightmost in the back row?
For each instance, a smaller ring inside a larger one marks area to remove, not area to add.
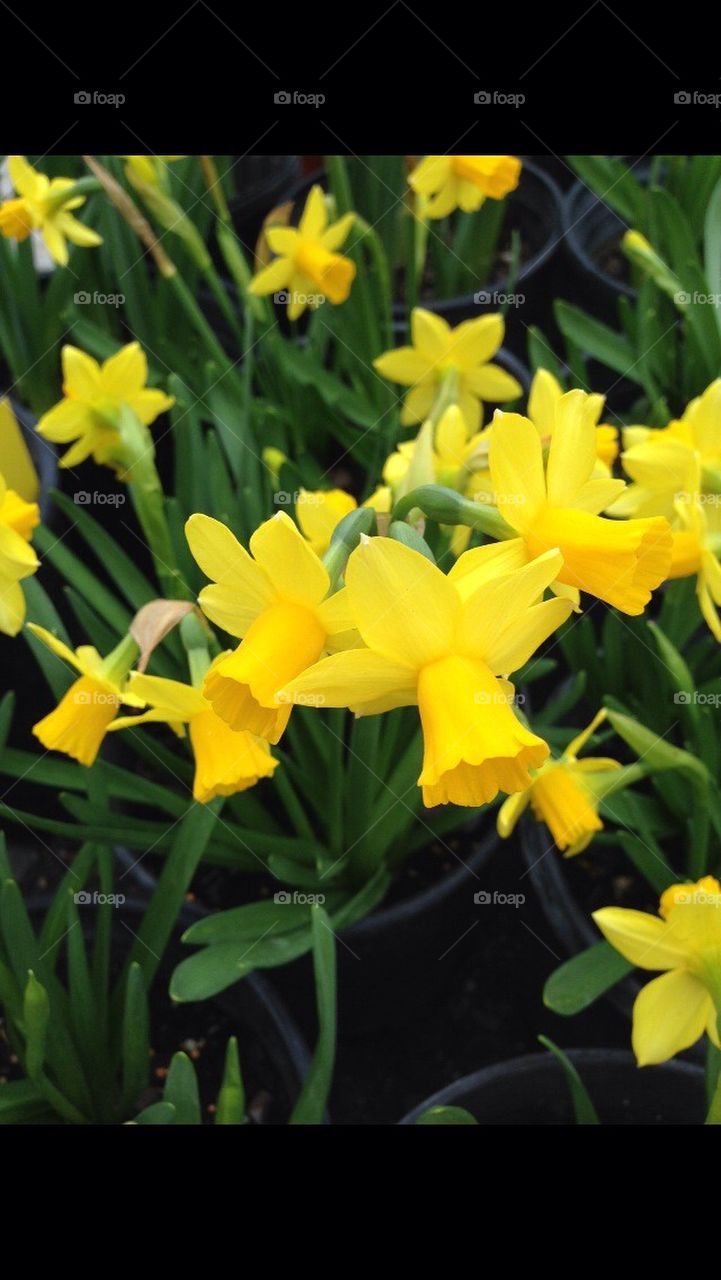
[[[628,224],[583,182],[575,182],[563,197],[562,220],[567,270],[561,297],[615,328],[619,298],[635,298],[636,291],[599,260]],[[625,262],[620,250],[619,260]]]

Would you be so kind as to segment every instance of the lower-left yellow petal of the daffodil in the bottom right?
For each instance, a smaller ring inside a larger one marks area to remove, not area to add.
[[[633,1046],[638,1065],[666,1062],[695,1044],[706,1029],[709,1005],[706,987],[684,970],[665,973],[647,983],[634,1004]]]

